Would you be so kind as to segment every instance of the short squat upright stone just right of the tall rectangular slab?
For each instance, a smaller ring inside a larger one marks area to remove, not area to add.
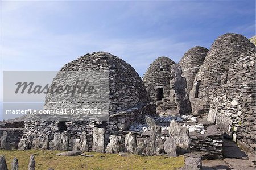
[[[121,136],[115,136],[115,135],[110,135],[109,136],[109,144],[106,146],[106,152],[108,153],[117,153],[122,150],[121,146]]]

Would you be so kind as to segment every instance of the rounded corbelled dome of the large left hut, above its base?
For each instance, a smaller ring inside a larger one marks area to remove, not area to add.
[[[65,71],[77,71],[78,73],[76,73],[73,77],[65,77],[65,74],[67,74]],[[92,96],[90,101],[96,101],[98,98],[108,97],[110,102],[110,114],[147,103],[149,100],[143,82],[134,68],[122,59],[119,59],[118,57],[106,52],[86,54],[77,60],[65,64],[60,70],[60,73],[63,72],[64,75],[60,76],[58,74],[53,80],[52,84],[59,85],[61,82],[63,82],[63,79],[64,83],[70,80],[75,82],[80,78],[79,75],[77,75],[79,74],[79,71],[86,71],[86,74],[92,74],[90,75],[92,76],[91,78],[96,77],[101,79],[102,81],[98,80],[98,82],[96,82],[97,85],[102,83],[106,85],[106,83],[109,83],[109,89],[104,89],[109,90],[109,94],[102,90],[102,93],[98,92],[99,96]],[[90,73],[91,71],[92,73]],[[106,77],[108,74],[104,76],[104,72],[108,72],[109,77]],[[99,74],[103,75],[101,76]],[[104,81],[105,78],[109,78],[109,81]],[[104,86],[98,86],[97,88],[104,88]],[[105,96],[106,94],[108,94],[108,96]],[[63,108],[65,106],[74,106],[76,109],[80,109],[83,108],[83,105],[86,105],[85,102],[88,102],[90,99],[88,97],[90,96],[83,98],[77,95],[73,96],[72,98],[67,98],[66,96],[62,97],[57,96],[56,94],[48,94],[46,96],[46,104],[44,109],[52,109],[52,107]],[[73,105],[67,105],[67,101],[72,102]]]

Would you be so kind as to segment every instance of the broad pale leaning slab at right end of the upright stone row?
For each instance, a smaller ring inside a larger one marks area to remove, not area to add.
[[[176,146],[178,147],[177,152],[179,152],[179,154],[189,151],[191,139],[188,135],[188,128],[182,127],[178,122],[172,120],[170,122],[169,132],[170,136],[172,136],[176,142]]]

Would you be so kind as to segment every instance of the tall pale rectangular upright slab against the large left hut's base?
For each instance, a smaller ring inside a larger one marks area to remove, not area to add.
[[[104,153],[104,139],[105,139],[105,129],[94,127],[92,151]]]

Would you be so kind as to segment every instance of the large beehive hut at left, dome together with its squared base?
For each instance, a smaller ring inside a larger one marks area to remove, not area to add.
[[[98,122],[89,119],[85,121],[26,121],[19,148],[77,150],[81,149],[78,147],[81,146],[84,148],[83,150],[90,151],[92,150],[94,127],[105,129],[105,142],[108,142],[109,135],[125,135],[123,131],[127,130],[131,123],[148,113],[149,97],[144,84],[134,68],[122,59],[110,53],[95,52],[71,61],[61,68],[61,72],[101,70],[109,73],[108,121]],[[76,76],[65,77],[65,74],[60,75],[59,73],[52,84],[60,84],[63,79],[74,81],[76,78]],[[100,83],[101,80],[98,80],[98,82]],[[49,90],[51,90],[51,87]],[[98,98],[98,96],[92,97]],[[76,95],[73,98],[61,96],[61,100],[59,100],[54,94],[47,94],[44,109],[63,109],[67,107],[69,107],[67,109],[83,109],[88,104],[86,101],[88,101],[88,98]]]

